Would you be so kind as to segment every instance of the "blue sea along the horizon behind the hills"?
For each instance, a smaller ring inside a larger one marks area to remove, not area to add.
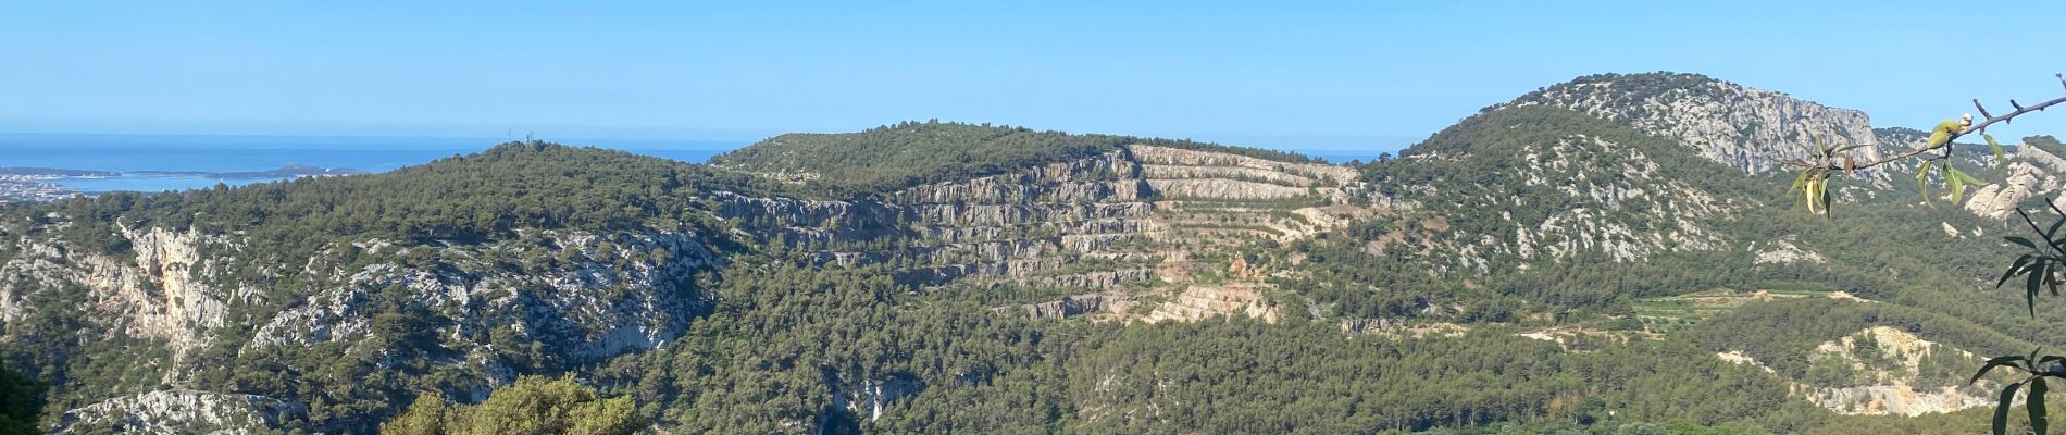
[[[285,165],[359,169],[370,173],[424,165],[486,150],[506,138],[405,136],[198,136],[198,134],[8,134],[0,132],[0,167],[116,171],[120,177],[50,179],[79,192],[174,192],[279,179],[219,179],[207,173],[269,171]],[[750,140],[554,140],[620,148],[636,155],[707,163]],[[1302,150],[1331,163],[1372,161],[1376,153]]]

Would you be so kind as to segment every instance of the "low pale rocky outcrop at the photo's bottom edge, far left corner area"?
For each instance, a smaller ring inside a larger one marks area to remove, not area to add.
[[[269,433],[308,406],[215,392],[147,392],[66,410],[50,433]]]

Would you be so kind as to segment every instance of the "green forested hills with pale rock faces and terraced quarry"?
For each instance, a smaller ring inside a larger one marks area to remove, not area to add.
[[[1357,167],[940,122],[510,142],[0,208],[0,357],[76,433],[1979,431],[1975,355],[2066,344],[1987,291],[2066,148],[1959,161],[1983,206],[1888,169],[1814,216],[1771,171],[1812,134],[1911,136],[1603,74]]]

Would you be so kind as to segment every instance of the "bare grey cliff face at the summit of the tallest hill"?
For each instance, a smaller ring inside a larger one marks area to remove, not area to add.
[[[1806,159],[1802,146],[1812,146],[1816,136],[1826,136],[1830,146],[1876,142],[1864,111],[1698,74],[1593,76],[1525,95],[1512,105],[1554,105],[1624,122],[1676,138],[1700,157],[1744,173],[1781,171],[1787,161]],[[1880,153],[1866,146],[1853,155],[1880,159]]]

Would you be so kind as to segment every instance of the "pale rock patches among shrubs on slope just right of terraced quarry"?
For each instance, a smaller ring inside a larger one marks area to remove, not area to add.
[[[1614,163],[1601,163],[1601,153],[1614,153]],[[1576,256],[1601,254],[1611,262],[1642,262],[1667,252],[1719,252],[1731,241],[1715,231],[1713,221],[1735,216],[1744,204],[1704,192],[1661,165],[1647,153],[1614,140],[1570,134],[1554,142],[1531,142],[1519,155],[1413,155],[1407,159],[1485,159],[1502,163],[1506,175],[1521,188],[1541,194],[1510,194],[1514,186],[1405,186],[1407,198],[1438,198],[1457,212],[1498,214],[1498,223],[1475,231],[1450,231],[1448,225],[1421,225],[1432,237],[1423,241],[1446,268],[1473,274],[1500,272],[1500,264],[1527,268],[1535,262],[1564,262]],[[1446,190],[1446,192],[1444,192]],[[1516,214],[1510,210],[1560,204],[1547,214]],[[1376,247],[1374,247],[1376,249]],[[1504,262],[1502,262],[1504,260]]]

